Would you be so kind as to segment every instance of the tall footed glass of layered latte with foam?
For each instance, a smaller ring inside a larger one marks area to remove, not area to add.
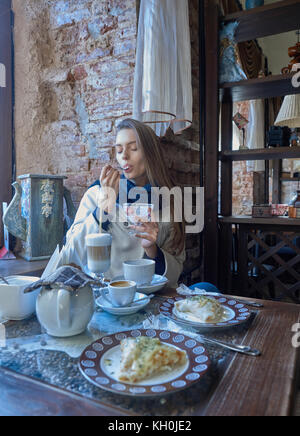
[[[94,273],[99,286],[94,286],[94,295],[97,298],[100,289],[105,286],[104,273],[110,268],[112,237],[108,233],[93,233],[85,237],[87,247],[87,267]]]

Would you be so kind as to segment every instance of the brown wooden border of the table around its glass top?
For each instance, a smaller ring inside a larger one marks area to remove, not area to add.
[[[174,290],[164,289],[161,293],[174,295]],[[292,326],[300,322],[300,306],[263,303],[264,308],[240,340],[261,350],[262,356],[229,352],[220,377],[212,384],[205,401],[197,405],[194,415],[293,414],[300,346],[292,346]],[[0,392],[2,415],[136,416],[131,411],[108,406],[11,369],[0,368]]]

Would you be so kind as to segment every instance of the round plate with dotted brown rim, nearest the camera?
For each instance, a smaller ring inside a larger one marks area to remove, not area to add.
[[[139,336],[158,338],[163,343],[186,351],[187,364],[136,384],[120,382],[117,378],[120,341],[126,337]],[[200,342],[175,332],[152,329],[129,330],[98,339],[85,349],[79,360],[80,371],[94,385],[110,392],[135,397],[166,395],[188,388],[206,374],[209,366],[209,356]]]

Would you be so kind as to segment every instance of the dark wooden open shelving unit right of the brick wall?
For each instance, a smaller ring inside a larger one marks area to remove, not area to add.
[[[205,2],[205,47],[206,47],[206,121],[204,148],[204,186],[205,186],[205,230],[204,230],[204,278],[226,290],[232,287],[232,270],[234,269],[232,228],[236,223],[232,217],[232,167],[234,161],[245,160],[281,160],[300,158],[298,148],[264,148],[261,150],[232,150],[232,107],[233,102],[252,99],[264,99],[300,93],[300,88],[292,85],[291,75],[276,75],[233,83],[218,84],[218,28],[221,21],[237,20],[237,42],[253,40],[258,37],[274,35],[296,30],[300,22],[300,1],[285,0],[270,5],[241,11],[225,17],[220,15],[217,0]],[[221,130],[219,131],[219,111],[221,112]],[[221,151],[219,152],[219,135]],[[220,173],[220,174],[219,174]],[[220,176],[220,177],[219,177]],[[220,181],[219,181],[220,180]],[[220,191],[220,210],[218,193]],[[248,217],[251,226],[251,217]],[[252,223],[256,230],[260,223]],[[276,232],[275,221],[263,222],[269,230]],[[293,223],[297,230],[298,221]],[[288,227],[287,221],[280,222],[280,232]],[[291,227],[288,228],[291,231]],[[300,232],[300,221],[299,221]],[[237,231],[238,233],[238,231]],[[247,281],[248,240],[239,241],[238,256],[243,257],[243,280]],[[259,242],[257,242],[259,244]],[[275,250],[276,251],[276,250]],[[278,259],[277,259],[278,260]],[[249,258],[248,258],[249,261]],[[263,260],[262,260],[263,261]],[[256,265],[258,268],[258,265]],[[281,265],[283,268],[284,265]],[[259,268],[258,268],[259,269]],[[291,266],[288,265],[290,270]],[[241,267],[239,283],[241,285]],[[297,278],[298,276],[296,276]],[[299,276],[300,279],[300,276]],[[276,280],[275,280],[276,281]],[[266,281],[267,282],[267,281]],[[300,281],[298,283],[300,289]],[[240,293],[248,294],[248,284]]]

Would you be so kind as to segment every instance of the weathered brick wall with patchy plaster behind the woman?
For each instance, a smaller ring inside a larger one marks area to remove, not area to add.
[[[165,148],[181,185],[199,184],[198,0],[189,0],[194,123]],[[63,174],[76,205],[112,162],[132,114],[139,0],[13,0],[17,174]],[[188,238],[187,267],[199,264]]]

